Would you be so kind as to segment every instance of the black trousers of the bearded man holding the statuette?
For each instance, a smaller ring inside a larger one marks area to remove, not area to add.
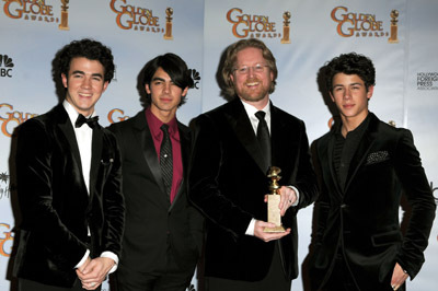
[[[292,282],[286,279],[281,267],[278,244],[275,244],[273,261],[266,277],[261,281],[247,282],[206,277],[206,291],[290,291]]]

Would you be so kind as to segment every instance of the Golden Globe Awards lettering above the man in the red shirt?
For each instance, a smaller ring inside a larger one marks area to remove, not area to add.
[[[160,19],[153,15],[151,9],[135,7],[126,0],[112,0],[111,10],[116,13],[117,26],[122,30],[134,30],[147,33],[164,33],[160,27]]]

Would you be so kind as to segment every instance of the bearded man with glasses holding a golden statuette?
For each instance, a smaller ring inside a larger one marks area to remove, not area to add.
[[[304,123],[272,104],[277,67],[263,42],[232,44],[222,75],[235,98],[194,120],[189,174],[189,197],[208,219],[206,290],[289,291],[298,276],[297,212],[316,196]],[[275,226],[265,203],[272,165],[285,185],[279,233],[264,232]]]

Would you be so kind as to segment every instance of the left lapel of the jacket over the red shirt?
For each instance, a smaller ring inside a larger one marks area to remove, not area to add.
[[[157,185],[163,193],[163,195],[161,196],[165,198],[166,195],[165,195],[163,178],[161,175],[160,162],[158,160],[155,144],[153,143],[152,133],[150,132],[145,112],[141,110],[134,118],[136,118],[134,125],[134,130],[135,130],[134,135],[140,142],[145,162],[148,164],[149,170],[151,171],[153,177],[155,178]]]

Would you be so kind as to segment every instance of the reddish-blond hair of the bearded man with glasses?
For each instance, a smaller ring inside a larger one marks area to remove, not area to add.
[[[278,70],[277,70],[277,65],[275,62],[273,53],[267,48],[267,46],[262,40],[258,40],[256,38],[241,39],[228,47],[227,53],[226,53],[227,57],[226,57],[223,68],[222,68],[222,78],[223,78],[223,81],[226,84],[224,93],[229,96],[235,95],[234,84],[231,80],[231,74],[235,70],[238,53],[247,47],[254,47],[254,48],[262,49],[263,58],[266,60],[267,66],[269,67],[269,70],[274,74],[273,82],[269,88],[269,94],[274,92],[275,85],[277,84],[275,80],[277,79]]]

